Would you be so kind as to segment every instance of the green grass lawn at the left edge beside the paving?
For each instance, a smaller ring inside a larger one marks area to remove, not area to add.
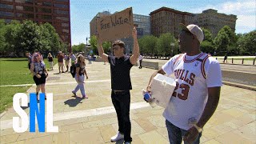
[[[46,68],[50,69],[46,61]],[[57,59],[54,59],[54,64]],[[27,66],[27,58],[0,58],[0,86],[34,84]],[[30,86],[0,87],[0,113],[10,107],[16,93],[24,93]]]

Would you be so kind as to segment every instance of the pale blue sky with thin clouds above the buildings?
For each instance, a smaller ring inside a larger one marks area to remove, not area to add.
[[[214,9],[218,13],[237,15],[235,33],[256,30],[255,0],[70,0],[71,43],[86,43],[90,37],[90,21],[98,12],[133,8],[134,14],[149,15],[162,6],[189,13],[202,13]]]

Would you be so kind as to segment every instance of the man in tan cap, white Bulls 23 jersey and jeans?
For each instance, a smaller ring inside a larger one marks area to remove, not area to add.
[[[178,36],[182,54],[175,55],[150,78],[150,92],[156,74],[174,74],[176,87],[163,116],[170,143],[199,143],[202,127],[218,106],[222,86],[220,65],[200,51],[204,34],[199,26],[180,24]]]

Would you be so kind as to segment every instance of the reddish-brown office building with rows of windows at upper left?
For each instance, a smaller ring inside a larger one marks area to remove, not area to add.
[[[1,0],[0,19],[48,22],[71,50],[70,0]]]

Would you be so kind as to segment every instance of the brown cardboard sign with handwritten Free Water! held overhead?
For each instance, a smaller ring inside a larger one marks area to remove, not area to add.
[[[102,42],[128,38],[132,36],[133,28],[134,18],[131,7],[110,16],[102,17],[97,22],[98,35]]]

